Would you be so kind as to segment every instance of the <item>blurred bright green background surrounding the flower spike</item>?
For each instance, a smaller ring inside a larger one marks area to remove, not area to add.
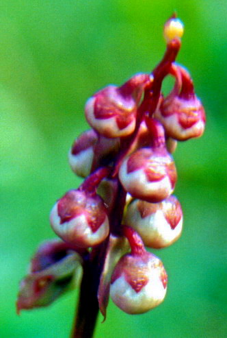
[[[55,237],[55,200],[80,182],[67,152],[88,128],[86,99],[155,67],[174,10],[185,23],[178,62],[191,72],[207,114],[204,136],[179,144],[174,155],[185,228],[171,248],[154,250],[169,274],[165,302],[137,316],[110,302],[95,337],[227,336],[226,0],[1,0],[0,337],[68,337],[77,291],[17,316],[18,282],[38,244]]]

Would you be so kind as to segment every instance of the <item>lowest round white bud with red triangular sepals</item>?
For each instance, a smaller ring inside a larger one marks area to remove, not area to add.
[[[118,261],[111,276],[110,296],[122,311],[147,312],[165,298],[168,276],[157,256],[126,254]]]

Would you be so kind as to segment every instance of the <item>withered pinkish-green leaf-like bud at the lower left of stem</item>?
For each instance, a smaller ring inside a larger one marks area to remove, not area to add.
[[[62,241],[46,241],[31,260],[21,281],[17,312],[51,304],[81,280],[82,258]]]

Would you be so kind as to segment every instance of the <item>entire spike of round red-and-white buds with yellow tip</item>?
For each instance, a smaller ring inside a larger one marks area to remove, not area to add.
[[[72,171],[85,180],[53,206],[51,226],[62,244],[49,244],[51,250],[42,247],[42,257],[36,254],[38,268],[27,277],[52,276],[44,282],[53,280],[55,294],[56,265],[70,259],[67,274],[62,270],[70,277],[62,284],[66,289],[75,263],[85,274],[89,262],[104,316],[109,295],[131,314],[153,309],[165,298],[165,268],[145,247],[165,248],[181,236],[183,213],[172,195],[177,179],[172,153],[178,141],[201,136],[205,124],[191,76],[175,62],[182,35],[183,24],[173,16],[164,28],[165,55],[152,73],[138,73],[88,99],[85,117],[91,129],[75,140],[68,154]],[[161,88],[168,75],[175,83],[165,97]],[[18,309],[40,305],[27,301],[26,285],[25,279]],[[48,292],[42,305],[54,298]]]

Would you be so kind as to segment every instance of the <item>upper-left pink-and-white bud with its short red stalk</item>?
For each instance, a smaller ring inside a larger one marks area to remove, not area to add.
[[[109,138],[132,134],[137,107],[148,82],[150,75],[137,74],[121,87],[110,85],[94,94],[85,105],[88,123]]]

